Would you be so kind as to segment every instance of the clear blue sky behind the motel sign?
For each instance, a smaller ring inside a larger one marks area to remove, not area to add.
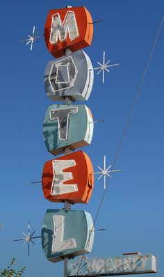
[[[106,74],[105,84],[95,75],[92,93],[86,103],[95,120],[92,144],[83,151],[92,164],[113,163],[129,109],[145,68],[152,42],[164,15],[163,0],[102,0],[102,1],[1,1],[1,109],[0,152],[1,193],[0,231],[1,262],[6,267],[13,256],[17,267],[27,267],[24,277],[63,276],[63,262],[47,262],[40,239],[31,245],[27,257],[26,246],[13,239],[23,237],[28,220],[32,230],[40,235],[47,208],[60,208],[44,199],[40,184],[44,161],[53,159],[42,139],[42,122],[49,104],[44,92],[44,68],[53,57],[44,40],[29,45],[19,43],[33,29],[44,33],[44,22],[52,8],[86,6],[95,24],[92,45],[85,48],[92,64],[102,61],[103,51],[111,63],[120,63]],[[156,44],[149,70],[145,77],[138,104],[124,139],[106,197],[101,206],[95,233],[95,244],[90,254],[115,256],[124,252],[152,253],[158,259],[158,273],[163,276],[164,254],[164,185],[163,185],[163,116],[164,116],[164,26]],[[74,205],[85,209],[94,219],[103,182],[95,178],[95,189],[88,205]],[[149,277],[150,274],[147,275]]]

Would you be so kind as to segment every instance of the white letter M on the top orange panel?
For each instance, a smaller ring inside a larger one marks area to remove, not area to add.
[[[60,40],[61,42],[67,40],[68,35],[71,41],[79,37],[79,31],[76,24],[76,17],[74,15],[74,12],[67,11],[63,23],[61,21],[59,13],[52,15],[49,42],[52,45],[56,45],[58,43],[58,40]]]

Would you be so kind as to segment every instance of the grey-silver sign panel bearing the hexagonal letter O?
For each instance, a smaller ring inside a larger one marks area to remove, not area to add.
[[[92,63],[83,50],[49,61],[44,73],[44,88],[54,101],[68,97],[88,100],[93,85]]]

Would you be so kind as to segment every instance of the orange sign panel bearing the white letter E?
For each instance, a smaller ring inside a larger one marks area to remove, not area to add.
[[[92,163],[83,151],[46,161],[42,173],[44,197],[51,202],[88,203],[94,175]]]

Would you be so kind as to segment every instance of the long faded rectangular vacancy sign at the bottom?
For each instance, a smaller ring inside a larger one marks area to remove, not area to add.
[[[87,257],[67,264],[67,276],[113,276],[156,273],[156,257],[151,254],[123,255],[113,258]]]

